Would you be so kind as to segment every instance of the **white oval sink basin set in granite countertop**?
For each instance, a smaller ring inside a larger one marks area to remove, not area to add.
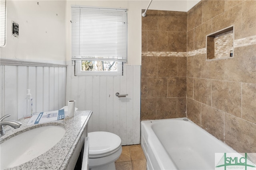
[[[16,135],[0,145],[0,169],[28,162],[56,145],[66,130],[61,126],[43,126]]]

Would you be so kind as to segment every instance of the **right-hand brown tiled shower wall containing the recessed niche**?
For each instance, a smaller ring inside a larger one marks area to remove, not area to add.
[[[206,35],[230,25],[234,58],[206,61]],[[187,31],[188,118],[236,151],[256,152],[256,1],[200,1]]]

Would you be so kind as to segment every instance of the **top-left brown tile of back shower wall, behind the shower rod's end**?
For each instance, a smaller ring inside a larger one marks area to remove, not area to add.
[[[145,10],[142,10],[142,13]],[[141,17],[142,31],[157,31],[158,10],[147,10],[147,16]]]

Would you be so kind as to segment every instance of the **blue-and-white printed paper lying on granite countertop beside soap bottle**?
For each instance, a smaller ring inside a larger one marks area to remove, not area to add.
[[[56,121],[64,118],[65,118],[64,109],[41,112],[41,113],[32,115],[27,125],[34,125],[38,123]]]

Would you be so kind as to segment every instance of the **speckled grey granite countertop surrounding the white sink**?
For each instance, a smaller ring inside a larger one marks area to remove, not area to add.
[[[47,170],[64,170],[67,168],[70,158],[79,143],[79,140],[84,132],[86,125],[92,115],[92,111],[76,111],[74,117],[67,117],[65,112],[65,118],[58,121],[51,121],[47,123],[40,123],[37,125],[27,125],[29,119],[19,119],[22,123],[20,128],[14,129],[10,126],[4,126],[6,134],[0,138],[0,143],[20,134],[25,131],[34,129],[36,127],[57,125],[66,129],[63,138],[44,154],[38,156],[8,170],[16,169],[47,169]]]

